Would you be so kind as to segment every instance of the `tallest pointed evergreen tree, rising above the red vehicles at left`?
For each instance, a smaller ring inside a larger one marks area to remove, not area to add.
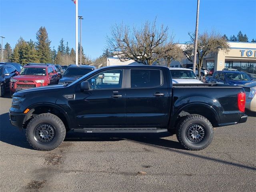
[[[45,27],[40,27],[38,32],[36,32],[36,49],[38,50],[38,56],[41,63],[50,63],[51,58],[51,41],[48,38],[48,33]]]

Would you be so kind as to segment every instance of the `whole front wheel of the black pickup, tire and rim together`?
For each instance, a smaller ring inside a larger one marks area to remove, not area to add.
[[[54,114],[43,113],[27,125],[26,137],[34,149],[49,151],[57,148],[66,136],[63,122]]]

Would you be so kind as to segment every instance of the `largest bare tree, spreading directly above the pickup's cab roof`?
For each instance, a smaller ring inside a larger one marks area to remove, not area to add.
[[[170,51],[173,35],[168,34],[168,27],[158,28],[154,22],[146,21],[141,27],[116,24],[110,28],[111,37],[107,43],[111,51],[121,61],[135,60],[138,63],[152,65],[164,51]],[[166,50],[167,47],[167,50]]]

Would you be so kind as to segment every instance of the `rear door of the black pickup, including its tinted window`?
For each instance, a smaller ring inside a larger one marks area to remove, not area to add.
[[[127,71],[127,126],[166,126],[169,118],[167,82],[160,69]]]

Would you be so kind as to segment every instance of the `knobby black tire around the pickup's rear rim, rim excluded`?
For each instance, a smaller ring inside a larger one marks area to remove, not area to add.
[[[192,125],[200,125],[204,128],[204,139],[200,142],[192,142],[187,136],[188,128]],[[214,132],[212,124],[204,116],[193,114],[180,120],[177,125],[177,139],[182,146],[188,150],[202,150],[206,148],[213,139]]]

